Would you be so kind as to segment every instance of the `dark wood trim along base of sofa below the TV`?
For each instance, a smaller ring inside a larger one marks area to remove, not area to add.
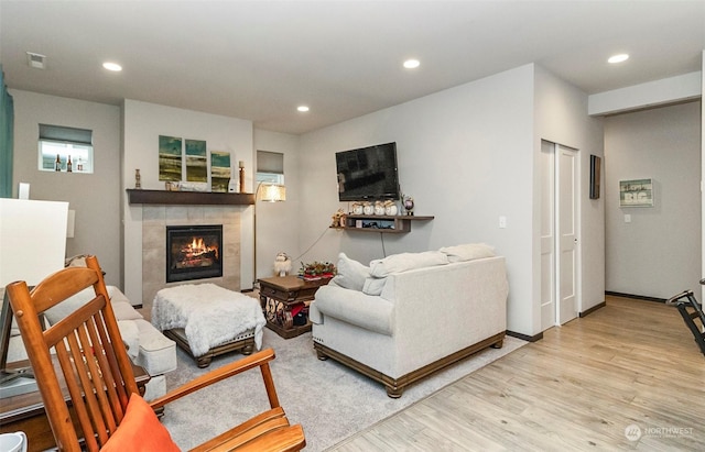
[[[313,343],[313,348],[316,350],[316,354],[318,360],[325,361],[328,357],[334,359],[335,361],[372,378],[376,382],[379,382],[384,385],[387,388],[387,395],[391,398],[401,397],[404,388],[411,385],[419,379],[440,371],[451,364],[457,363],[471,354],[479,352],[480,350],[487,349],[488,346],[492,346],[495,349],[501,349],[502,342],[505,340],[505,332],[497,333],[490,338],[487,338],[480,342],[477,342],[470,346],[467,346],[460,351],[457,351],[453,354],[449,354],[441,360],[437,360],[431,364],[426,364],[425,366],[417,368],[416,371],[412,371],[406,375],[402,375],[399,378],[392,378],[389,375],[384,375],[379,371],[373,370],[372,367],[365,365],[356,360],[352,360],[349,356],[344,355],[343,353],[336,352],[333,349],[328,349],[327,346],[315,342]]]

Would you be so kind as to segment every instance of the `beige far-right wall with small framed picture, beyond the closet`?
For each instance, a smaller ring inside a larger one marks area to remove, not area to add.
[[[695,101],[605,119],[608,291],[669,298],[698,287],[701,108]],[[653,179],[654,207],[620,208],[619,180],[640,178]]]

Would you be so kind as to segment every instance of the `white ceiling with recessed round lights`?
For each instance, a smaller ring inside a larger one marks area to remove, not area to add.
[[[11,89],[301,134],[529,63],[587,93],[701,70],[705,1],[0,0],[0,43]]]

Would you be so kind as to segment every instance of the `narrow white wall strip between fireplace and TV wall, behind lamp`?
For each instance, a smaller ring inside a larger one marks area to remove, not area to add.
[[[299,136],[286,133],[254,130],[257,151],[284,154],[285,202],[257,203],[257,277],[273,275],[274,257],[284,252],[292,260],[301,254],[299,247],[301,169]],[[299,261],[292,262],[292,274],[299,271]]]

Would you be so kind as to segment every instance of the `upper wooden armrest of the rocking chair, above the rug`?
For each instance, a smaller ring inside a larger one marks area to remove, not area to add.
[[[269,375],[269,362],[274,359],[274,351],[272,349],[265,349],[258,353],[253,353],[249,356],[243,357],[242,360],[238,360],[234,363],[224,365],[223,367],[216,368],[214,371],[208,372],[205,375],[202,375],[197,378],[194,378],[192,382],[186,383],[177,388],[170,390],[167,394],[162,397],[155,398],[150,401],[150,406],[153,409],[162,408],[164,405],[180,399],[184,396],[187,396],[191,393],[194,393],[198,389],[203,389],[207,386],[213,385],[214,383],[218,383],[223,379],[231,377],[234,375],[240,374],[242,372],[249,371],[254,367],[265,366],[267,371],[262,370],[262,372],[267,372]]]

